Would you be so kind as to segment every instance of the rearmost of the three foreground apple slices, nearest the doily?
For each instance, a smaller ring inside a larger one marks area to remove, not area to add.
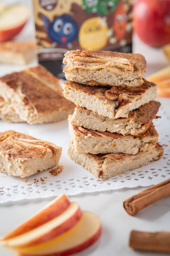
[[[32,218],[29,218],[22,225],[18,226],[10,233],[5,235],[1,241],[11,239],[18,235],[22,235],[38,226],[45,224],[51,219],[60,215],[63,211],[65,211],[70,205],[70,201],[65,194],[58,196],[53,201],[51,201],[45,208],[39,211]]]

